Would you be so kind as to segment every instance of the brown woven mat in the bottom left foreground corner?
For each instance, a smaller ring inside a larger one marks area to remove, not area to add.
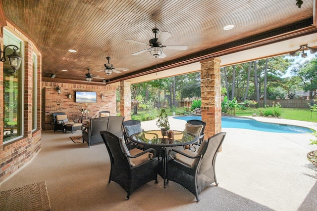
[[[49,211],[51,202],[46,182],[0,192],[1,211]]]

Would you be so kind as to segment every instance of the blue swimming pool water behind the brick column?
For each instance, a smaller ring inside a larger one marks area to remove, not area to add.
[[[202,120],[201,116],[179,116],[173,117],[179,120]],[[242,128],[242,129],[253,129],[266,132],[280,132],[280,133],[311,133],[313,132],[308,127],[281,125],[274,123],[263,123],[249,118],[241,117],[222,117],[221,127],[227,128]]]

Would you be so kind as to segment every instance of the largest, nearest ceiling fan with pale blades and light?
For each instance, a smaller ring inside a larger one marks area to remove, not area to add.
[[[149,44],[144,43],[144,42],[139,42],[139,41],[134,41],[131,39],[126,39],[128,42],[134,42],[142,45],[149,45],[151,46],[150,48],[132,53],[132,55],[139,55],[140,53],[150,51],[150,53],[155,57],[155,58],[165,58],[166,54],[163,52],[163,47],[169,48],[169,49],[176,49],[176,50],[186,50],[187,45],[163,45],[163,42],[165,42],[172,34],[169,32],[162,32],[157,38],[157,34],[159,33],[159,29],[152,29],[152,32],[155,34],[155,38],[149,40]]]

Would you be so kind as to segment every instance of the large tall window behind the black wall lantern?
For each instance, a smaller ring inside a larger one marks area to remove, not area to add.
[[[11,33],[3,30],[3,47],[14,44],[19,47],[17,52],[23,55],[23,42]],[[6,55],[13,53],[8,47]],[[8,59],[3,62],[3,142],[14,140],[23,135],[23,61],[20,68],[14,73]]]

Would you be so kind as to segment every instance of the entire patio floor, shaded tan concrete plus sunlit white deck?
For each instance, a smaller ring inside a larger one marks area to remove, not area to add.
[[[315,123],[259,120],[317,129]],[[185,124],[175,119],[170,119],[170,123],[179,130]],[[155,121],[142,122],[142,127],[156,129]],[[4,181],[0,190],[45,180],[52,211],[316,209],[317,170],[306,158],[309,151],[317,150],[317,146],[309,145],[311,134],[222,130],[227,135],[216,161],[219,185],[207,187],[200,194],[199,203],[194,195],[174,182],[164,188],[160,177],[158,184],[147,183],[127,201],[125,191],[118,184],[107,184],[110,161],[105,144],[87,148],[86,143],[75,144],[64,134],[52,131],[43,132],[42,150],[31,163]]]

